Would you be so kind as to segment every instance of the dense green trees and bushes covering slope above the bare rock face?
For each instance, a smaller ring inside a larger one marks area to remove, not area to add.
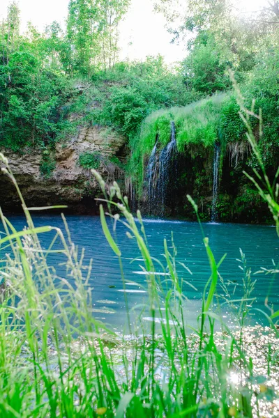
[[[199,98],[161,56],[117,62],[118,24],[128,4],[70,1],[66,32],[54,22],[44,33],[29,25],[23,35],[20,10],[10,5],[0,32],[0,144],[45,148],[84,123],[128,138],[154,109]],[[78,123],[70,121],[73,113]]]

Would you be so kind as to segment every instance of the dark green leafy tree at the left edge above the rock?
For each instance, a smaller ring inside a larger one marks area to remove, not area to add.
[[[51,63],[52,38],[31,26],[20,36],[19,22],[13,3],[0,32],[0,144],[13,149],[53,141],[63,129],[63,104],[70,94],[68,79]]]

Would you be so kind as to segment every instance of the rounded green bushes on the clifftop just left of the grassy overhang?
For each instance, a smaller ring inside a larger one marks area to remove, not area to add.
[[[161,56],[144,63],[119,63],[99,76],[109,84],[91,110],[91,121],[109,125],[133,138],[144,118],[162,107],[183,105],[199,97],[188,92],[183,77],[170,72]]]

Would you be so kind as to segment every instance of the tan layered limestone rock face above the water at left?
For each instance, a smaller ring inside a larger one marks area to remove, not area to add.
[[[55,163],[49,178],[40,171],[43,161],[41,150],[24,149],[23,153],[1,150],[9,161],[10,169],[17,180],[28,206],[68,205],[71,212],[95,213],[98,206],[95,198],[100,193],[98,183],[89,169],[78,164],[82,153],[98,152],[101,155],[98,171],[110,184],[123,180],[123,171],[110,162],[110,157],[119,155],[125,146],[125,139],[101,127],[82,127],[77,137],[66,143],[56,144],[50,153]],[[0,206],[3,210],[17,212],[20,200],[11,180],[0,173]]]

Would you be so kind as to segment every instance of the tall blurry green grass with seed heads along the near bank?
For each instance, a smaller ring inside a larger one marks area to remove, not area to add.
[[[250,114],[244,107],[241,110],[247,122],[248,140],[261,164],[257,142],[249,127]],[[2,154],[0,160],[3,172],[13,181],[22,199],[8,161]],[[243,297],[235,301],[230,299],[218,272],[225,256],[216,260],[209,239],[204,236],[211,275],[204,289],[197,325],[187,327],[184,315],[187,299],[182,292],[183,280],[176,270],[175,238],[172,247],[167,247],[164,241],[165,263],[158,265],[151,254],[140,212],[136,222],[117,183],[107,189],[100,175],[96,171],[93,174],[107,201],[107,216],[100,206],[100,220],[107,242],[119,258],[124,288],[125,254],[121,254],[108,226],[110,218],[112,223],[126,225],[128,238],[135,240],[140,249],[149,297],[145,311],[152,318],[150,328],[146,332],[140,316],[135,327],[130,325],[133,337],[128,339],[94,318],[89,291],[91,264],[84,266],[84,253],[78,252],[73,244],[66,219],[63,218],[66,236],[52,226],[36,229],[22,199],[28,229],[15,231],[0,212],[4,229],[0,239],[0,275],[6,284],[2,286],[0,304],[0,416],[252,418],[267,414],[270,403],[278,402],[270,379],[278,376],[279,312],[271,310],[270,316],[266,316],[269,331],[264,331],[266,335],[263,332],[263,349],[258,344],[258,352],[252,357],[249,332],[256,331],[249,331],[245,325],[254,284],[244,254],[241,253]],[[264,171],[257,173],[256,178],[265,181],[264,189],[256,184],[273,212],[279,234],[278,187],[274,192]],[[190,196],[189,200],[197,212]],[[52,234],[48,249],[40,245],[40,236],[45,233]],[[63,278],[50,264],[50,254],[57,252],[66,266]],[[161,281],[156,273],[158,267],[169,274],[168,281]],[[274,268],[269,273],[276,271]],[[218,281],[222,295],[217,292]],[[213,302],[229,304],[238,319],[239,332],[223,322],[220,311],[213,309]],[[128,298],[126,310],[130,323]],[[159,324],[156,318],[160,318]],[[216,325],[221,332],[216,332]],[[259,336],[255,336],[255,341],[259,341]],[[237,384],[232,382],[232,373],[239,376]]]

